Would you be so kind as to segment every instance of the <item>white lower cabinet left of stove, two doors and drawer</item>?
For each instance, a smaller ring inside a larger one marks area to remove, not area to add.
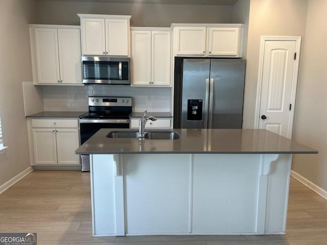
[[[79,165],[76,119],[32,119],[35,165]]]

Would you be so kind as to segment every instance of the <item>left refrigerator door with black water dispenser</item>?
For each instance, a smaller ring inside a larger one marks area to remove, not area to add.
[[[181,128],[207,127],[210,59],[184,59]]]

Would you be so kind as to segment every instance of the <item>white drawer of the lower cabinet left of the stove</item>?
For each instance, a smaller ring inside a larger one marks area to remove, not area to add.
[[[78,128],[78,119],[32,119],[32,128]]]

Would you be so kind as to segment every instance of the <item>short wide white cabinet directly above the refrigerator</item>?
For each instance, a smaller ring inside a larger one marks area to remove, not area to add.
[[[175,56],[241,57],[243,24],[172,24]]]

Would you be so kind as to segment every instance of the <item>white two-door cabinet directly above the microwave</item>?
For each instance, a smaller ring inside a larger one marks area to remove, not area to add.
[[[129,56],[127,15],[78,14],[81,18],[82,54]]]

